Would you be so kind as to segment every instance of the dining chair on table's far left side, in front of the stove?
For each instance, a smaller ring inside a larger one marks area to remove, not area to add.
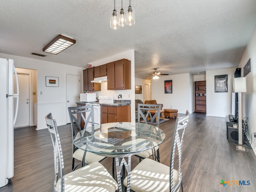
[[[68,113],[70,116],[70,123],[72,128],[72,141],[79,138],[79,131],[82,130],[81,125],[84,125],[84,129],[90,129],[90,127],[94,126],[94,114],[93,114],[93,106],[86,105],[86,106],[77,106],[77,107],[68,107]],[[88,121],[92,120],[91,124],[88,124]],[[77,134],[77,136],[76,136]],[[76,136],[76,138],[74,138]],[[75,170],[80,164],[84,166],[85,164],[91,164],[93,162],[101,162],[104,160],[105,156],[100,156],[94,154],[92,152],[86,152],[85,150],[77,148],[73,144],[73,155],[72,155],[72,170]],[[81,161],[76,166],[75,159]]]

